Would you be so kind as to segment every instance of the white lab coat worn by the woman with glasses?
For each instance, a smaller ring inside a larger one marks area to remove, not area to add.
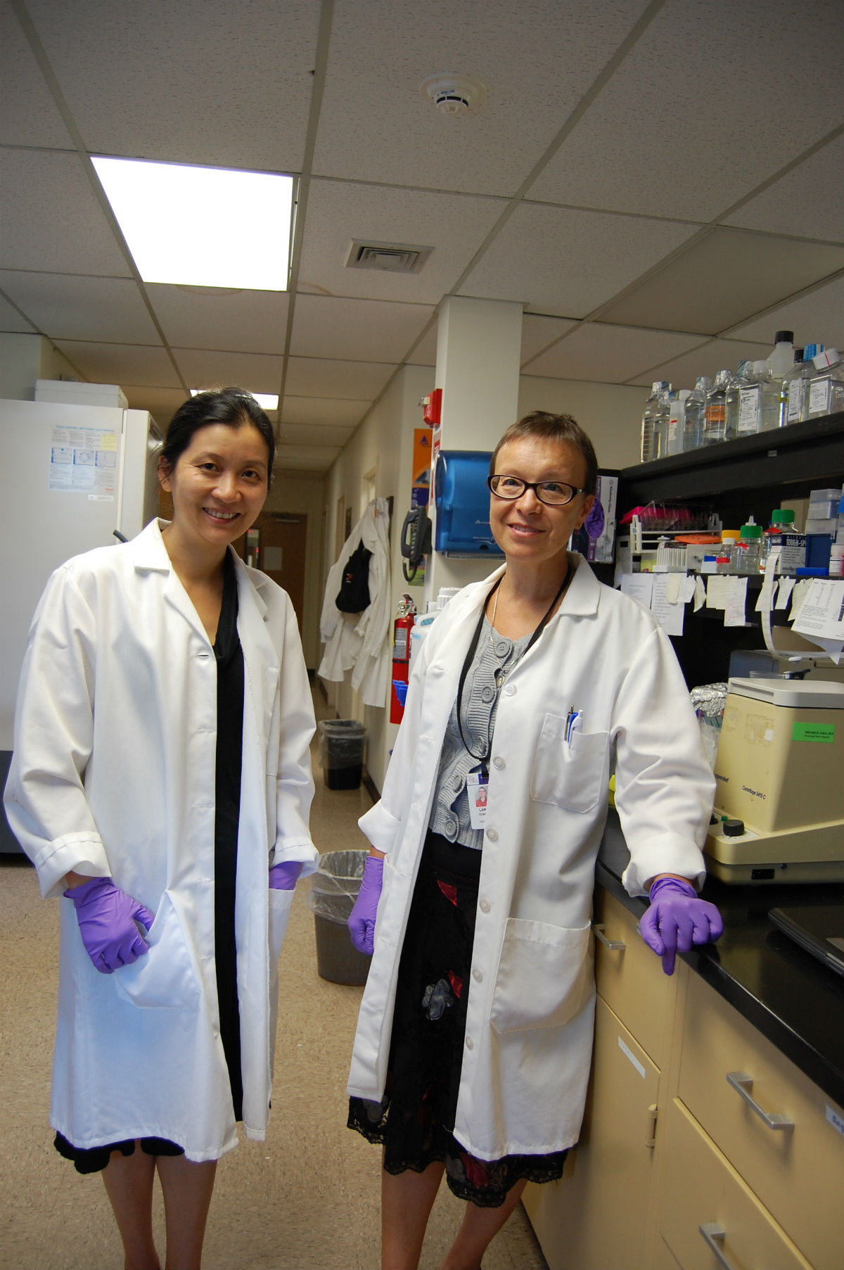
[[[570,558],[577,561],[579,558]],[[492,580],[466,587],[414,660],[381,801],[359,824],[387,853],[349,1093],[383,1095],[401,945],[463,657]],[[570,709],[580,730],[565,740]],[[481,1160],[577,1139],[594,1017],[590,916],[608,781],[624,883],[703,876],[715,781],[674,652],[588,564],[508,677],[495,723],[454,1135]]]

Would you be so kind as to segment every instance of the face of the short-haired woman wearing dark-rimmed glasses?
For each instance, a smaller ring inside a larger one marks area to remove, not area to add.
[[[586,461],[567,441],[519,437],[498,452],[495,474],[518,476],[523,481],[565,481],[580,489],[586,480]],[[547,564],[565,555],[569,538],[589,516],[591,494],[575,494],[570,503],[550,505],[539,502],[536,490],[525,489],[509,500],[490,495],[492,536],[508,561]]]

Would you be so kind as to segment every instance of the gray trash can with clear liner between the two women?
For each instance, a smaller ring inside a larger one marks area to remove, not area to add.
[[[358,952],[346,918],[360,890],[368,851],[326,851],[311,878],[308,904],[316,930],[316,969],[329,983],[363,984],[372,958]]]

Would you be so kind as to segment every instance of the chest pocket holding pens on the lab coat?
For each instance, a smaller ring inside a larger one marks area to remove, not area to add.
[[[609,781],[609,733],[572,732],[566,720],[546,715],[531,773],[534,803],[553,803],[569,812],[591,812]]]

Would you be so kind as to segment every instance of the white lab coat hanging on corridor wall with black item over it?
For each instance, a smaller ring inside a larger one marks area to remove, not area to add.
[[[325,643],[317,674],[329,683],[341,683],[352,671],[352,687],[360,690],[364,706],[386,706],[390,688],[390,509],[386,498],[373,499],[343,544],[329,570],[320,617]],[[369,605],[362,613],[344,613],[335,605],[343,570],[352,552],[363,542],[369,560]]]

